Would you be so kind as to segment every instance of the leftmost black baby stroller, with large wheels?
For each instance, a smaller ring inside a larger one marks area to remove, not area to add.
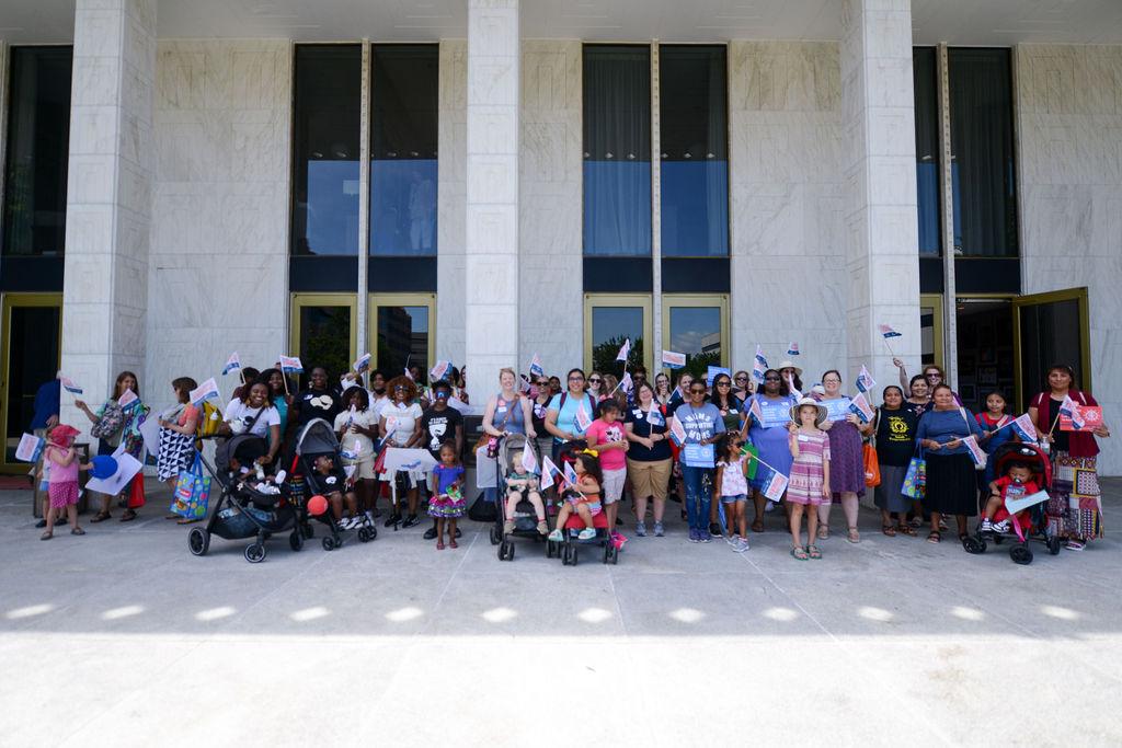
[[[192,527],[187,533],[187,548],[192,554],[205,555],[211,535],[227,541],[254,538],[245,551],[246,561],[251,564],[265,561],[265,541],[270,535],[292,530],[288,545],[293,551],[304,547],[298,507],[289,500],[287,487],[283,482],[277,486],[261,481],[261,472],[236,474],[231,468],[231,460],[249,467],[267,451],[260,436],[240,434],[218,447],[213,468],[202,460],[222,492],[206,524]]]

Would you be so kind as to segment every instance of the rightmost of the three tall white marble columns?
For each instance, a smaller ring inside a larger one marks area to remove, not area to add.
[[[846,380],[865,364],[880,389],[896,381],[896,371],[879,324],[902,334],[890,344],[909,371],[918,370],[920,355],[910,0],[843,3],[842,110]]]

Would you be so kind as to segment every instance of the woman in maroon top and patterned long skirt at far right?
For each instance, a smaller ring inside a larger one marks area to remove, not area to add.
[[[1111,435],[1106,424],[1094,431],[1068,431],[1060,423],[1076,421],[1072,415],[1079,407],[1096,407],[1089,393],[1075,389],[1075,369],[1057,363],[1048,370],[1048,389],[1032,398],[1029,418],[1036,424],[1041,446],[1051,456],[1052,484],[1048,501],[1049,517],[1059,518],[1058,532],[1067,537],[1069,551],[1083,551],[1087,541],[1102,537],[1102,499],[1098,492],[1095,436]],[[1070,423],[1072,426],[1076,424]]]

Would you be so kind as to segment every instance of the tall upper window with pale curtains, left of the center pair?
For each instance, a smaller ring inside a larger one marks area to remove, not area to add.
[[[651,253],[651,49],[585,47],[585,253]]]

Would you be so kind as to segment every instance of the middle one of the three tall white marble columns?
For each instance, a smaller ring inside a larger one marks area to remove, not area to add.
[[[518,0],[468,0],[468,391],[518,364]]]

